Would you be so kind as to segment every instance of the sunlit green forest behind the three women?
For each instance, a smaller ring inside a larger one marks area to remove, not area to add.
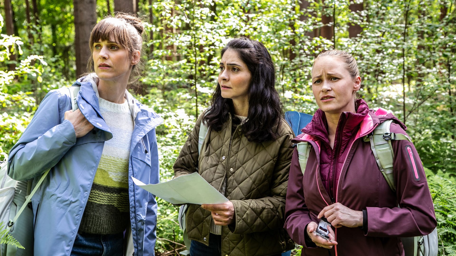
[[[407,126],[426,167],[440,255],[456,255],[456,12],[451,0],[1,0],[0,160],[52,89],[86,72],[92,26],[113,11],[143,16],[144,76],[131,89],[165,119],[157,128],[161,181],[207,108],[220,50],[247,36],[270,51],[285,110],[314,113],[315,56],[358,60],[359,92]],[[183,249],[177,210],[159,205],[156,255]],[[300,255],[300,246],[293,254]]]

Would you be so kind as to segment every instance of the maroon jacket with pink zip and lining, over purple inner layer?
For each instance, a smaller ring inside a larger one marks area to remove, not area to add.
[[[358,100],[358,106],[357,113],[342,113],[334,149],[329,146],[326,117],[320,109],[302,129],[303,134],[293,140],[307,141],[313,149],[304,175],[295,149],[286,195],[285,229],[304,246],[301,255],[403,256],[399,237],[426,235],[437,225],[425,172],[413,143],[392,141],[394,193],[378,169],[370,143],[363,141],[363,136],[387,119],[395,122],[391,132],[406,134],[405,125],[383,109],[369,110],[363,100]],[[318,223],[318,213],[335,202],[352,210],[367,210],[367,233],[358,227],[341,227],[335,229],[338,244],[331,250],[306,245],[306,225]]]

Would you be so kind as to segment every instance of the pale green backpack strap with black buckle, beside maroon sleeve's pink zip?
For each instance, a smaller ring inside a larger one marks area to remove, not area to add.
[[[391,140],[408,140],[410,138],[402,133],[391,133],[390,126],[393,120],[389,119],[380,123],[372,133],[364,137],[364,141],[370,141],[372,153],[377,161],[378,168],[389,185],[396,192],[396,182],[393,174],[394,153]]]

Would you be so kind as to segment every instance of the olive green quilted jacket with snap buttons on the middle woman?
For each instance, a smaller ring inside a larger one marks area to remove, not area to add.
[[[198,154],[197,120],[174,164],[175,177],[198,172],[234,205],[235,221],[222,226],[222,256],[266,256],[294,248],[283,228],[293,131],[283,121],[280,137],[264,143],[249,142],[232,119],[217,132],[209,128]],[[199,166],[199,168],[197,168]],[[209,244],[211,212],[200,205],[187,210],[188,237]]]

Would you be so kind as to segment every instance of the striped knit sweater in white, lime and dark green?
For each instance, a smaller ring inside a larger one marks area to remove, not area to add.
[[[79,231],[116,234],[130,225],[128,163],[135,124],[127,101],[116,104],[99,98],[99,106],[113,138],[104,143]]]

